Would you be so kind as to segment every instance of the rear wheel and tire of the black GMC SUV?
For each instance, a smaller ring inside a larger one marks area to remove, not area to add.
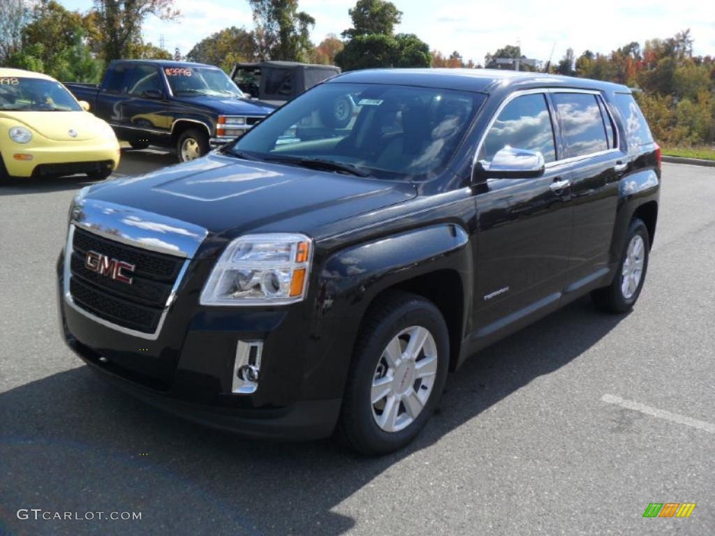
[[[641,219],[634,218],[613,282],[591,292],[596,307],[610,313],[624,313],[633,308],[646,279],[649,251],[648,228]]]

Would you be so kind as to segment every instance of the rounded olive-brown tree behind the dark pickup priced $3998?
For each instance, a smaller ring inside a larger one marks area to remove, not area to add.
[[[257,59],[253,33],[231,26],[195,44],[186,55],[189,61],[220,66],[227,73],[237,63]]]

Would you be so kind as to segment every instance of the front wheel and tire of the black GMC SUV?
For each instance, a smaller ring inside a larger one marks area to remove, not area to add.
[[[375,455],[407,445],[434,412],[447,378],[449,337],[439,309],[415,294],[391,293],[368,314],[337,436]]]

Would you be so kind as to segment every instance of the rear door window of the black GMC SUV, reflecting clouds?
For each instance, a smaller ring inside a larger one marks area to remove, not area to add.
[[[596,95],[554,93],[553,104],[566,143],[566,158],[581,157],[608,149],[606,126]]]

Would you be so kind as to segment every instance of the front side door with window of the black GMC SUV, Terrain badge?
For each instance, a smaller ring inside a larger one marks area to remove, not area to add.
[[[554,165],[553,127],[546,91],[523,91],[501,105],[480,144],[477,158],[482,162],[509,146],[541,152],[546,171],[530,179],[490,179],[487,191],[475,197],[478,338],[516,329],[538,311],[555,308],[561,297],[572,207],[568,170]]]

